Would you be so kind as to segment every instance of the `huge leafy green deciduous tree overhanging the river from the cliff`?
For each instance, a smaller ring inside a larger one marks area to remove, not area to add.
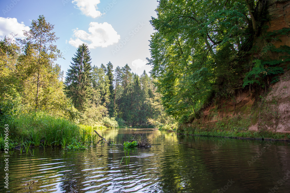
[[[212,97],[242,87],[252,65],[247,56],[267,21],[264,2],[159,1],[147,60],[169,114],[198,117]]]

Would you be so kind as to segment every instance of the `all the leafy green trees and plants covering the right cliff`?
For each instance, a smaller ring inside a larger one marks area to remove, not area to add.
[[[286,1],[285,1],[286,2]],[[159,1],[151,37],[151,75],[166,112],[192,123],[202,110],[238,92],[260,99],[289,68],[290,47],[275,46],[290,28],[267,31],[276,1]],[[245,128],[248,128],[249,125]]]

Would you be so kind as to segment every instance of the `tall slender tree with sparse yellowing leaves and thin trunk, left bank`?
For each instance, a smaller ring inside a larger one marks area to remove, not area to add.
[[[40,15],[37,21],[32,20],[30,30],[24,31],[27,38],[18,39],[25,49],[18,67],[20,73],[26,78],[26,83],[34,85],[32,87],[35,89],[35,94],[33,94],[35,109],[40,107],[40,92],[51,86],[55,80],[53,61],[61,57],[59,49],[53,44],[59,39],[55,36],[53,29],[54,25],[47,23],[45,17]]]

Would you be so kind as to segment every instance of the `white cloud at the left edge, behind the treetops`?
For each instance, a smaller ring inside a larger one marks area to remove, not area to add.
[[[0,38],[11,37],[10,33],[18,34],[18,38],[25,38],[23,30],[29,31],[30,28],[23,22],[18,23],[16,18],[0,17]]]

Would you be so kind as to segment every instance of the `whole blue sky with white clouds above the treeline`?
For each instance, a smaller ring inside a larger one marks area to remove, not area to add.
[[[25,38],[32,20],[44,15],[54,26],[59,38],[55,45],[65,59],[57,64],[66,72],[79,44],[90,49],[92,66],[109,61],[117,66],[130,66],[132,72],[148,73],[149,41],[154,29],[157,0],[0,0],[0,39],[11,32]]]

